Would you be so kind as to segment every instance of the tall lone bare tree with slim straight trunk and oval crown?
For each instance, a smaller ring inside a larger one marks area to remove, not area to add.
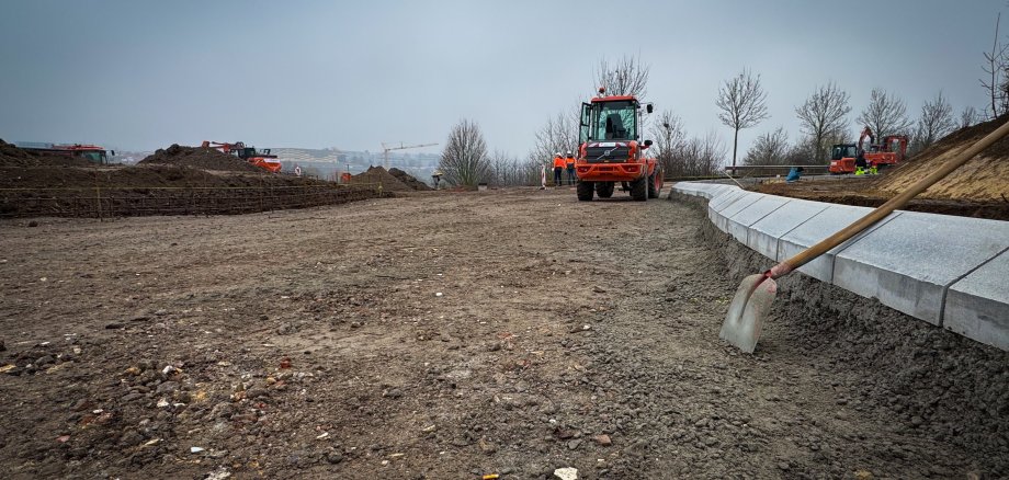
[[[739,130],[757,126],[768,118],[768,94],[760,87],[760,75],[742,69],[738,77],[726,80],[718,88],[718,100],[715,104],[722,112],[718,119],[732,128],[733,134],[733,167],[736,167],[736,150],[739,147]]]

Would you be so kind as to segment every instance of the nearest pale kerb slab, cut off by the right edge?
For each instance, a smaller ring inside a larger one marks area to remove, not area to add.
[[[943,327],[1009,351],[1009,251],[950,286]]]

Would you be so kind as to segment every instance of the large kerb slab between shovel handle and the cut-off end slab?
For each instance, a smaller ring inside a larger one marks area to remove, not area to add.
[[[1009,222],[905,212],[840,252],[834,284],[940,324],[943,290],[1009,248]]]

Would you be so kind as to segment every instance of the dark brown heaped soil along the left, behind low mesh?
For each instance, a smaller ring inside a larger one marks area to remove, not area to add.
[[[0,217],[7,218],[230,215],[381,195],[371,185],[269,173],[214,149],[172,145],[137,165],[102,167],[0,140]]]

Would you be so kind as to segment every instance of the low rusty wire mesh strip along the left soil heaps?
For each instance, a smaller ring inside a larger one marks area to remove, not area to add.
[[[0,188],[0,218],[237,215],[387,196],[381,184]]]

